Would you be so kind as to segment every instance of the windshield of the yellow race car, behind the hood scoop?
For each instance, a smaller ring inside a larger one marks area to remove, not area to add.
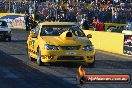
[[[78,37],[85,37],[84,32],[79,26],[59,25],[59,26],[43,26],[41,29],[41,36],[60,36],[63,32],[70,31],[73,35]]]

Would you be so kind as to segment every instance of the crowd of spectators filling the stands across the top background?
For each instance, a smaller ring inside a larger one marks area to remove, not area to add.
[[[49,0],[47,0],[49,1]],[[44,21],[80,22],[93,17],[101,22],[126,23],[132,18],[131,0],[54,0],[53,2],[21,1],[0,2],[0,12],[35,13],[35,18]],[[10,6],[10,9],[9,9]]]

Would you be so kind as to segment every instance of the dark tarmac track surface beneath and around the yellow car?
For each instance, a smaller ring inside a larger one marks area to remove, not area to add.
[[[80,64],[55,64],[37,66],[26,55],[26,40],[29,32],[13,30],[12,41],[0,41],[0,88],[132,88],[128,84],[76,83]],[[95,67],[85,67],[87,74],[130,74],[132,57],[96,52]]]

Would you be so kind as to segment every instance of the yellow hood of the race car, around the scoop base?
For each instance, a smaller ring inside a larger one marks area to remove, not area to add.
[[[87,37],[64,39],[60,36],[42,36],[46,43],[56,46],[69,46],[69,45],[91,45],[91,41]]]

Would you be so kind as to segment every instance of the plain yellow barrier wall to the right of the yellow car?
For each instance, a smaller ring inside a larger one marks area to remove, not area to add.
[[[102,31],[84,30],[85,34],[92,34],[90,39],[95,49],[123,54],[124,34]]]

